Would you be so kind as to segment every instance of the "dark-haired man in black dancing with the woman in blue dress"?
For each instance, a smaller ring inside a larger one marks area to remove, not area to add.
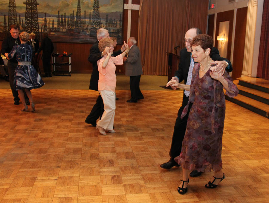
[[[21,44],[21,41],[19,38],[20,31],[19,31],[18,25],[10,25],[10,34],[11,35],[7,37],[6,39],[4,39],[2,43],[1,53],[5,57],[7,57],[7,55],[10,53],[13,46]],[[8,59],[8,62],[7,62],[7,70],[9,74],[9,85],[10,85],[10,89],[12,90],[15,105],[20,104],[18,91],[15,90],[14,88],[14,75],[15,75],[15,69],[17,65],[18,65],[18,62],[17,62],[17,57],[15,54],[15,56],[12,59]],[[25,95],[25,103],[27,105],[30,105],[29,99],[25,92],[24,92],[24,95]]]

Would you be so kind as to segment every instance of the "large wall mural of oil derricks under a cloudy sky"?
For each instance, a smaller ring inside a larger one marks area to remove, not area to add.
[[[46,32],[53,42],[94,43],[96,31],[105,28],[122,43],[124,0],[2,0],[0,40],[9,26],[20,32],[34,32],[39,39]]]

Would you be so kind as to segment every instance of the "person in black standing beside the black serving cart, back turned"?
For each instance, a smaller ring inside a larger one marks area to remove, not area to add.
[[[39,54],[40,51],[43,51],[42,54],[42,63],[43,69],[45,72],[45,77],[52,77],[51,74],[51,53],[53,52],[54,46],[51,42],[51,39],[48,38],[48,33],[43,32],[42,34],[42,43],[36,55]]]

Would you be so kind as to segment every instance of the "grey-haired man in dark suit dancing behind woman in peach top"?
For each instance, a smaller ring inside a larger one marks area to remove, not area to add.
[[[91,79],[90,79],[90,90],[98,91],[98,80],[99,80],[99,72],[98,72],[98,66],[97,61],[101,59],[106,52],[109,51],[109,48],[106,47],[103,52],[100,52],[98,48],[98,43],[101,39],[109,37],[108,30],[104,28],[100,28],[97,30],[97,40],[94,45],[90,49],[90,55],[88,57],[88,61],[92,63],[92,73],[91,73]],[[125,46],[123,45],[119,51],[113,52],[114,56],[117,56],[121,54],[125,50]],[[104,112],[104,104],[102,97],[97,97],[96,103],[92,107],[91,113],[87,116],[85,119],[85,123],[91,124],[93,126],[96,126],[96,120],[100,117],[102,117],[102,114]]]

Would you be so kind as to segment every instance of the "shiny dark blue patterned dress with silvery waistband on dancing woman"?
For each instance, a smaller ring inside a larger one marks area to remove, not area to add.
[[[18,66],[14,75],[15,90],[27,88],[29,90],[42,87],[45,83],[31,65],[32,46],[28,44],[20,44],[13,46],[12,51],[8,54],[9,58],[13,58],[17,54]]]

